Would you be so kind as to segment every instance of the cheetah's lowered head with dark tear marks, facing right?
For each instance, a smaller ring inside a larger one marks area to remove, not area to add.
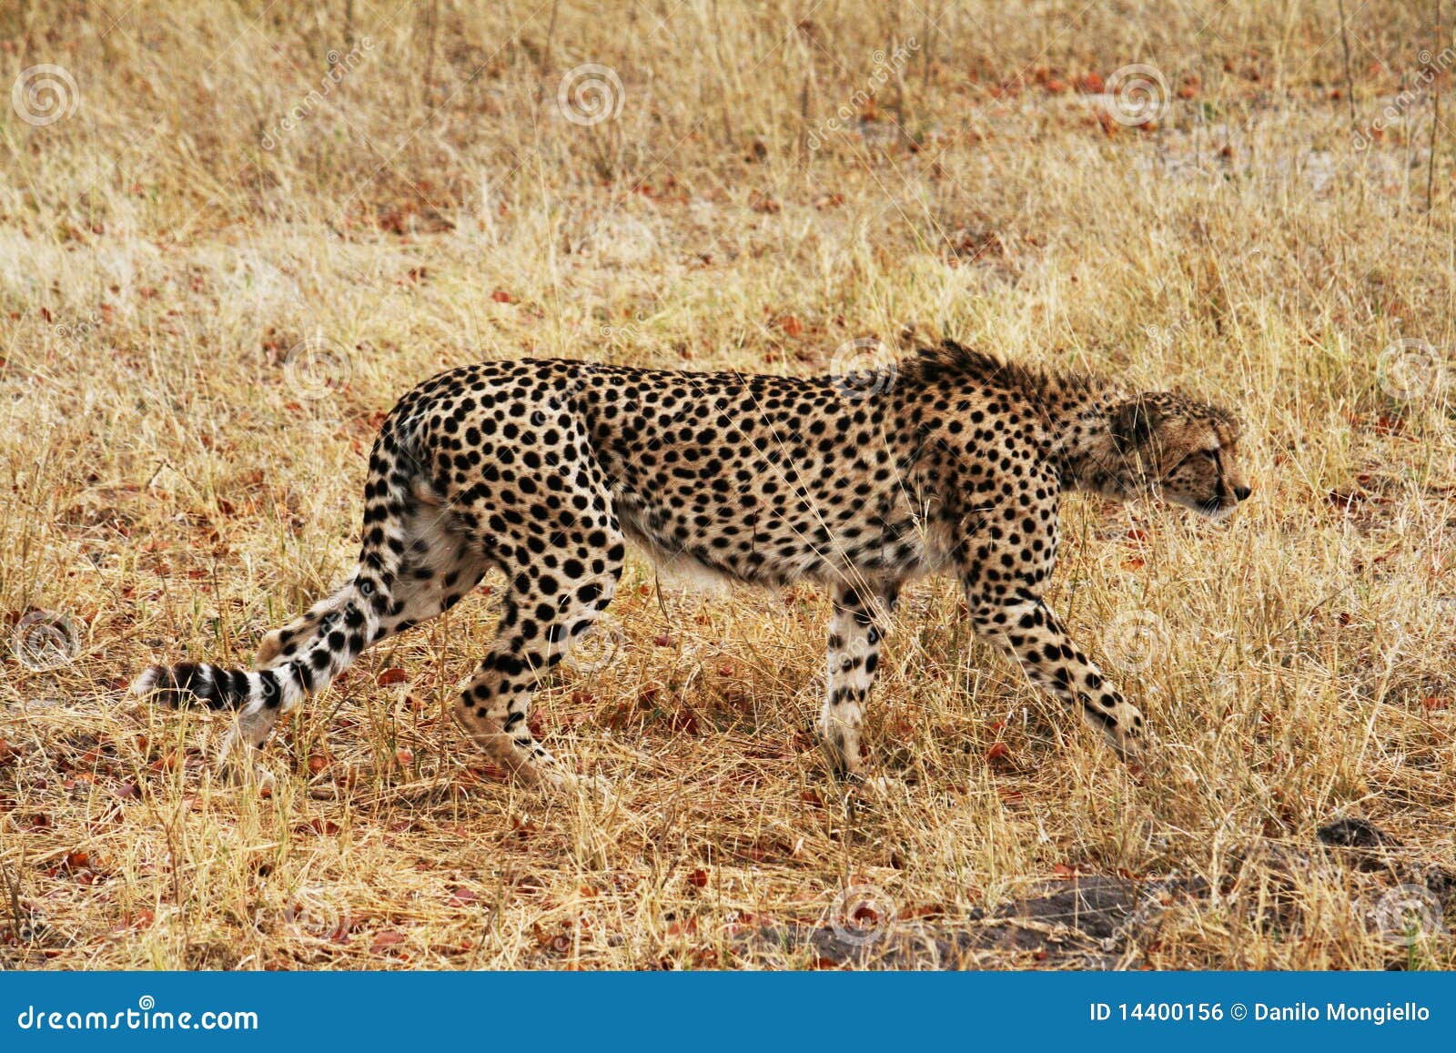
[[[1222,518],[1249,495],[1239,421],[1175,392],[1152,392],[1108,415],[1118,488],[1156,494]]]

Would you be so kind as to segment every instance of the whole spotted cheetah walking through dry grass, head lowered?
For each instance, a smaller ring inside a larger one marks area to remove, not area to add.
[[[138,695],[236,714],[223,763],[370,644],[507,580],[454,715],[527,784],[574,779],[530,731],[539,679],[612,603],[626,542],[670,564],[831,597],[820,733],[863,778],[860,722],[897,593],[954,574],[977,635],[1136,757],[1143,715],[1044,599],[1066,489],[1160,495],[1207,517],[1249,497],[1241,425],[1174,392],[1042,371],[945,341],[874,371],[799,379],[585,361],[440,373],[386,417],[358,567],[268,634],[252,671],[151,666]]]

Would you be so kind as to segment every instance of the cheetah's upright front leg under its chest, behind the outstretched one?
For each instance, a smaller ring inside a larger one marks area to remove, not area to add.
[[[888,596],[853,585],[834,591],[820,733],[834,773],[844,778],[856,778],[863,769],[859,725],[879,667],[890,602]]]

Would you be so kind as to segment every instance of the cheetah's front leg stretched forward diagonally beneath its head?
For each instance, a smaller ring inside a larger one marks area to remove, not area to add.
[[[1072,642],[1051,607],[1028,594],[987,599],[974,593],[967,590],[967,600],[978,635],[1016,655],[1032,683],[1075,706],[1118,757],[1142,756],[1143,714]]]

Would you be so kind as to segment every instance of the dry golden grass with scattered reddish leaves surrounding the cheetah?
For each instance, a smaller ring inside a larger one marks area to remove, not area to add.
[[[1374,910],[1402,883],[1456,910],[1452,374],[1402,398],[1380,358],[1456,336],[1424,10],[1353,6],[1351,109],[1334,0],[326,7],[0,12],[0,87],[76,83],[51,124],[0,111],[0,964],[808,966],[741,934],[831,922],[856,884],[895,904],[859,923],[951,931],[1070,869],[1185,883],[1107,963],[1456,964],[1440,919],[1406,947]],[[563,118],[582,63],[614,119]],[[1093,93],[1130,63],[1165,77],[1152,125]],[[268,798],[207,770],[217,722],[121,692],[154,657],[246,663],[347,571],[361,454],[441,367],[811,373],[911,320],[1248,418],[1227,523],[1069,502],[1054,600],[1159,730],[1147,772],[939,581],[868,717],[897,788],[852,808],[808,731],[810,588],[629,568],[620,650],[537,706],[609,804],[501,784],[448,721],[488,591],[300,712]],[[1340,817],[1399,846],[1321,846]]]

